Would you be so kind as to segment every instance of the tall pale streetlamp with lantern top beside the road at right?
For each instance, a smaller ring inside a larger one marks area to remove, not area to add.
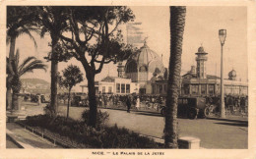
[[[222,45],[221,55],[221,118],[225,118],[224,114],[224,40],[226,37],[226,29],[219,29],[219,38]]]

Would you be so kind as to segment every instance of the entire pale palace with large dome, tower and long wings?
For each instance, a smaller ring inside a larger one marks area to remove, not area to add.
[[[197,65],[180,77],[179,94],[182,96],[215,96],[221,94],[221,78],[207,74],[208,53],[203,46],[195,53]],[[168,71],[163,67],[160,56],[147,43],[132,54],[125,66],[117,66],[118,77],[107,76],[96,81],[98,93],[114,94],[166,94]],[[225,95],[248,95],[248,83],[236,80],[234,70],[224,79]]]

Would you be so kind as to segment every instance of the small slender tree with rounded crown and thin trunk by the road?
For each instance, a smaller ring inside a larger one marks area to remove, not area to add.
[[[59,79],[59,85],[68,89],[68,107],[67,107],[67,119],[69,118],[69,104],[70,104],[70,92],[77,83],[83,81],[83,74],[79,67],[69,65],[64,71],[62,71],[63,77]]]

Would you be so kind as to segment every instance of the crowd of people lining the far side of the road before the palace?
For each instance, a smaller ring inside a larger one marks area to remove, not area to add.
[[[79,98],[78,98],[79,96]],[[207,104],[220,106],[220,96],[206,96]],[[24,97],[25,101],[45,102],[45,97],[40,94],[27,94]],[[58,94],[58,100],[66,104],[67,94]],[[71,94],[71,103],[76,106],[89,106],[88,94]],[[81,104],[79,104],[81,103]],[[96,94],[96,103],[98,107],[102,108],[127,108],[130,112],[131,108],[140,109],[155,109],[160,110],[160,106],[165,105],[165,96],[163,95],[138,95],[138,94]],[[226,110],[230,111],[248,111],[248,96],[225,95],[224,105]]]

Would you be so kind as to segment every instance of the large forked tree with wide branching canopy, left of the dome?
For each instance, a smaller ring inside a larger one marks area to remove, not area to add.
[[[134,19],[127,7],[69,7],[70,36],[61,35],[69,53],[85,69],[89,88],[89,125],[96,127],[95,77],[104,64],[127,58],[133,49],[125,45],[118,27]]]

